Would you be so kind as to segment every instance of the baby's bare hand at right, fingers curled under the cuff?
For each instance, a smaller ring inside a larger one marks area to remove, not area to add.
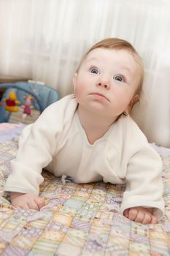
[[[156,224],[158,219],[152,215],[152,208],[144,207],[132,207],[125,209],[123,215],[134,222],[140,222],[142,224]]]

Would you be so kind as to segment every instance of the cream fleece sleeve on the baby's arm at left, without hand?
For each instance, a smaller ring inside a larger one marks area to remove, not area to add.
[[[17,156],[11,162],[12,173],[7,178],[5,191],[39,194],[39,185],[44,180],[42,168],[52,161],[63,134],[64,113],[68,111],[68,102],[65,100],[64,103],[64,100],[47,107],[33,125],[23,130]],[[72,110],[72,105],[70,108]]]

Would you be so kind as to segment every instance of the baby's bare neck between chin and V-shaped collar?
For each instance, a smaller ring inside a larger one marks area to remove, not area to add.
[[[95,143],[96,140],[103,137],[115,121],[112,118],[96,115],[96,113],[86,112],[81,108],[78,108],[77,113],[90,144]]]

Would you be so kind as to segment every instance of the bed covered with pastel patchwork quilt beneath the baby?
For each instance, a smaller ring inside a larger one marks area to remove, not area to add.
[[[13,208],[4,182],[24,124],[0,124],[0,254],[4,255],[170,255],[170,149],[152,144],[163,159],[166,211],[157,225],[119,214],[124,186],[75,184],[43,171],[41,211]]]

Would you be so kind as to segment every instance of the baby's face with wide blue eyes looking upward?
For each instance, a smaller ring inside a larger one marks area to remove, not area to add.
[[[79,108],[116,118],[128,110],[140,77],[141,66],[128,50],[91,50],[73,78]]]

